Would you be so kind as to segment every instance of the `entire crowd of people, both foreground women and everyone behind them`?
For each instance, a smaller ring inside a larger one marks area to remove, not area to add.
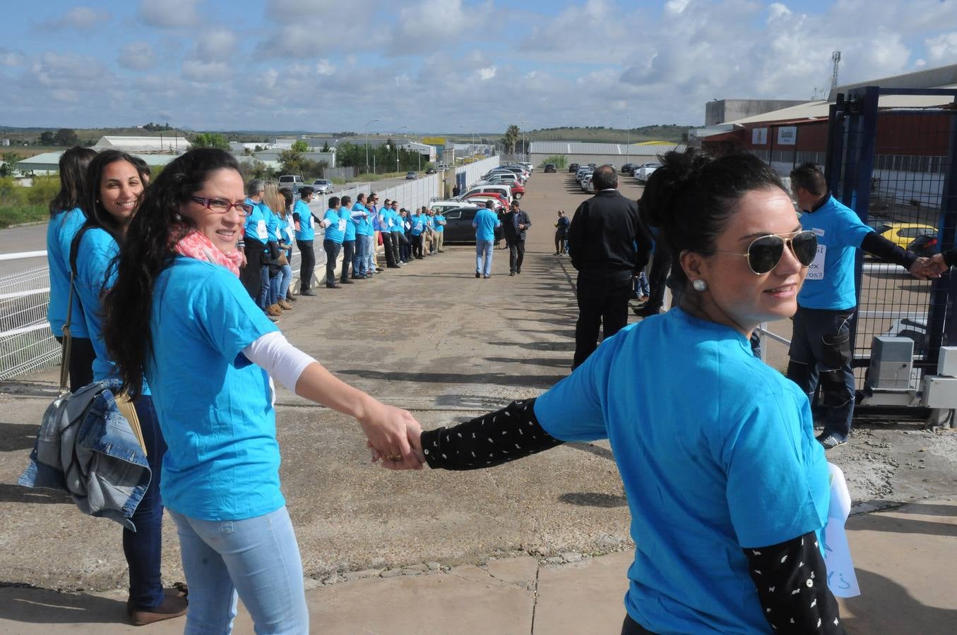
[[[810,208],[800,220],[778,176],[751,155],[670,152],[640,205],[617,191],[612,166],[597,168],[595,196],[567,229],[563,213],[556,223],[556,252],[564,230],[579,272],[573,372],[536,399],[423,432],[411,413],[292,346],[270,318],[289,310],[293,245],[312,253],[317,227],[325,285],[341,288],[442,252],[441,214],[380,207],[374,193],[333,196],[314,214],[309,188],[296,200],[262,181],[244,184],[235,159],[213,148],[177,157],[153,183],[123,152],[65,152],[48,229],[51,327],[74,336],[72,389],[115,382],[132,401],[153,475],[132,517],[137,531],[122,536],[134,624],[187,613],[188,633],[230,632],[241,598],[257,632],[308,632],[279,482],[276,380],[353,417],[392,470],[486,469],[609,439],[636,545],[622,633],[843,632],[820,543],[829,443],[814,440],[810,398],[818,377],[826,395],[845,385],[843,349],[828,337],[842,333],[853,307],[844,306],[843,281],[809,286],[808,267],[832,235],[829,258],[860,247],[919,277],[955,256],[916,258],[876,241],[803,168],[792,174]],[[512,204],[500,219],[490,202],[473,225],[476,277],[491,274],[499,227],[510,273],[521,274],[528,214]],[[626,326],[633,279],[653,245],[670,265],[674,306]],[[312,296],[314,259],[301,267],[300,295]],[[809,368],[803,376],[789,368],[790,381],[752,353],[749,337],[762,321],[795,313],[795,341],[825,347],[792,344],[792,362]],[[825,431],[846,433],[843,393],[825,399],[833,408]],[[164,508],[187,589],[161,583]]]

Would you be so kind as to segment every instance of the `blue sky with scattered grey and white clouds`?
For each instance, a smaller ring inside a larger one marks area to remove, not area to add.
[[[701,124],[710,99],[810,99],[835,50],[842,83],[957,63],[957,0],[3,4],[14,126]]]

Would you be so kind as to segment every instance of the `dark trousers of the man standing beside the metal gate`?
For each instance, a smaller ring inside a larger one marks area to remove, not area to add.
[[[851,318],[854,310],[797,307],[790,339],[788,379],[808,395],[822,415],[824,434],[847,439],[854,417],[855,384],[851,369]],[[821,403],[814,393],[821,387]]]

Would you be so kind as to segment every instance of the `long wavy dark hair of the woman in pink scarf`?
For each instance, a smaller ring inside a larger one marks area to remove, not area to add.
[[[146,364],[153,353],[149,328],[156,278],[171,263],[173,245],[195,224],[180,206],[202,189],[211,172],[239,171],[233,155],[197,148],[167,164],[146,189],[122,242],[117,278],[103,298],[103,341],[118,366],[123,389],[139,396]]]

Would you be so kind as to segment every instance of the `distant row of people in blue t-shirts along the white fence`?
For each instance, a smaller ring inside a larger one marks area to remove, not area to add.
[[[445,216],[428,206],[409,211],[400,208],[398,201],[386,199],[380,207],[378,194],[360,192],[355,202],[348,195],[332,196],[324,212],[317,213],[309,207],[314,193],[312,187],[302,187],[297,199],[291,189],[279,189],[261,179],[246,184],[245,204],[251,211],[239,245],[246,256],[240,276],[256,305],[274,321],[283,311],[292,310],[291,302],[297,299],[290,290],[293,245],[300,252],[299,295],[315,296],[312,283],[318,228],[323,230],[328,289],[341,289],[344,284],[368,280],[387,269],[444,252]],[[384,248],[385,267],[379,262],[378,246]],[[342,268],[337,279],[340,254]]]

